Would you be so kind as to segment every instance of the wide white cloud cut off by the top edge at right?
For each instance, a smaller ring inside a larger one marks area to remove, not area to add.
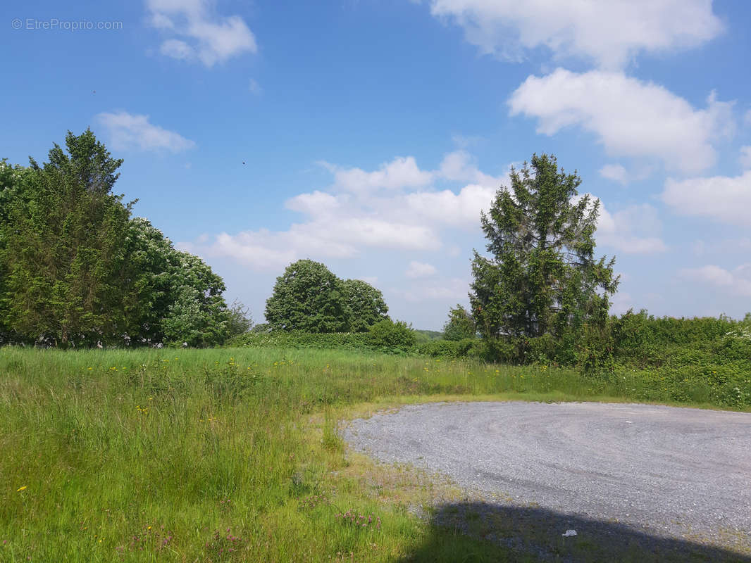
[[[639,53],[703,44],[722,31],[711,0],[430,0],[481,53],[519,62],[545,48],[619,68]]]

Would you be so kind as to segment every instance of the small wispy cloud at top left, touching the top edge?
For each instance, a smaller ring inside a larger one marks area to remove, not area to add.
[[[210,0],[147,0],[149,23],[176,35],[160,47],[173,59],[198,59],[207,67],[242,53],[257,53],[255,36],[240,16],[219,16]]]

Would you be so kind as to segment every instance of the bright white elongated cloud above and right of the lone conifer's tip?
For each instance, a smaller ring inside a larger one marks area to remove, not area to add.
[[[698,172],[716,160],[711,140],[732,130],[731,103],[695,110],[662,86],[624,74],[556,69],[529,76],[508,100],[512,116],[538,119],[537,132],[553,135],[578,125],[614,156],[659,158],[669,168]]]

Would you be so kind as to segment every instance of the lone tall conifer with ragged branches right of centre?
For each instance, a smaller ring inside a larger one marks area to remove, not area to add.
[[[511,188],[501,188],[481,215],[492,257],[475,251],[472,317],[485,339],[517,341],[522,361],[528,339],[571,342],[595,324],[606,330],[614,259],[594,257],[599,201],[578,197],[579,185],[555,157],[533,155],[531,167],[511,170]],[[602,363],[588,358],[587,365]]]

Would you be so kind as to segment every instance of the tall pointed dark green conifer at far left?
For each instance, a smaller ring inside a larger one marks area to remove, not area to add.
[[[32,342],[112,342],[128,332],[135,295],[122,275],[130,205],[110,193],[122,161],[91,131],[68,132],[67,154],[30,159],[2,225],[3,307],[8,326]]]

